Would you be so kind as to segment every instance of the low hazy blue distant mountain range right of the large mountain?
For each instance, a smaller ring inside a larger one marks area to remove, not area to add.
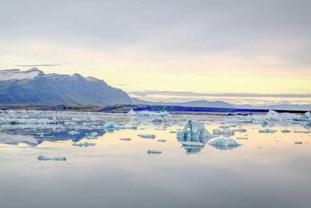
[[[145,105],[178,105],[186,107],[207,107],[207,108],[236,108],[236,109],[274,109],[274,110],[311,110],[311,105],[293,105],[293,104],[279,104],[279,105],[236,105],[232,103],[226,103],[223,101],[206,101],[196,100],[189,102],[148,102],[140,100],[135,97],[131,97],[134,104],[145,104]]]

